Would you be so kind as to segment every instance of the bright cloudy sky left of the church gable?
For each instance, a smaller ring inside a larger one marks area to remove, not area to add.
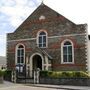
[[[0,56],[6,54],[6,33],[11,33],[32,13],[41,0],[0,0]]]

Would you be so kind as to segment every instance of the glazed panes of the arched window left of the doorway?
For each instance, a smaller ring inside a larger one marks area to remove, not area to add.
[[[16,58],[17,58],[17,64],[23,64],[24,63],[24,46],[18,45],[16,48]]]

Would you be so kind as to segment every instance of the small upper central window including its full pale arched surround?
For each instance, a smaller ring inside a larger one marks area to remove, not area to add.
[[[40,48],[46,48],[48,45],[48,40],[47,40],[47,31],[46,30],[40,30],[37,33],[37,46]]]

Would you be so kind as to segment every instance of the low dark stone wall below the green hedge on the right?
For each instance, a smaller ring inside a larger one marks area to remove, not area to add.
[[[40,84],[90,86],[90,78],[40,78]]]

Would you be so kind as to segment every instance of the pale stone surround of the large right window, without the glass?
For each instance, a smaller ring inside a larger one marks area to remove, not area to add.
[[[72,62],[64,62],[63,61],[63,56],[64,56],[63,55],[63,46],[66,41],[69,41],[71,43],[71,45],[67,45],[67,46],[72,46]],[[74,64],[74,45],[73,45],[73,42],[69,39],[66,39],[61,43],[61,64]]]

